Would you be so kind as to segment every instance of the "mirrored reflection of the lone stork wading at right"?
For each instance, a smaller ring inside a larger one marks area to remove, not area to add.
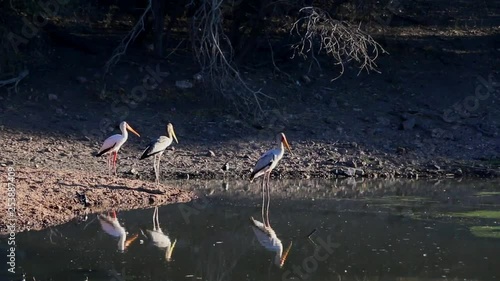
[[[276,236],[276,233],[272,229],[271,223],[269,221],[269,201],[270,191],[269,188],[267,188],[267,192],[262,192],[262,222],[255,220],[253,217],[250,217],[250,222],[252,224],[252,230],[259,243],[264,248],[266,248],[266,250],[276,252],[276,256],[274,257],[274,264],[276,266],[283,267],[288,253],[292,248],[292,242],[290,241],[290,245],[283,253],[283,244],[281,243],[281,240]]]

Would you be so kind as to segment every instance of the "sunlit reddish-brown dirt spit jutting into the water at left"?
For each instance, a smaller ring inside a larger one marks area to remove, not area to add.
[[[166,185],[156,188],[154,183],[141,180],[16,166],[13,172],[2,167],[5,176],[0,198],[4,202],[8,171],[16,188],[16,232],[40,230],[91,213],[187,202],[196,197],[193,192]],[[9,212],[0,212],[0,234],[8,233],[11,223]]]

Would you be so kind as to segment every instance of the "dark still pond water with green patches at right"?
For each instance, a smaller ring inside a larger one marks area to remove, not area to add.
[[[139,234],[124,252],[89,215],[17,234],[16,274],[0,279],[500,280],[498,182],[282,182],[270,208],[283,246],[293,241],[282,268],[250,227],[250,216],[261,220],[258,185],[177,184],[210,195],[159,208],[176,241],[170,261],[140,234],[153,209],[135,210],[118,212],[127,238]]]

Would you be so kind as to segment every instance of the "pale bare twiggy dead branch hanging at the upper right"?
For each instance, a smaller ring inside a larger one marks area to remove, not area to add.
[[[290,29],[291,34],[295,32],[300,37],[299,42],[292,45],[295,54],[305,59],[309,54],[318,63],[314,57],[316,47],[318,54],[325,52],[334,58],[335,64],[342,67],[338,77],[344,73],[344,65],[350,61],[360,65],[358,75],[362,70],[379,72],[375,60],[380,52],[387,52],[359,26],[332,19],[327,12],[316,7],[304,7],[300,12],[306,15],[294,22]]]

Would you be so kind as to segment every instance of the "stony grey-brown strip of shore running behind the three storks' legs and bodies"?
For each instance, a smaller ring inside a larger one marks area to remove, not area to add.
[[[203,126],[201,124],[200,126]],[[197,129],[194,129],[195,131]],[[248,179],[258,157],[274,144],[251,139],[192,141],[181,130],[179,144],[164,153],[162,180]],[[4,129],[0,139],[0,165],[45,170],[72,170],[88,175],[106,174],[106,158],[92,156],[100,142],[77,135],[62,138],[55,134],[17,132]],[[148,139],[130,137],[120,150],[120,178],[154,180],[152,159],[139,160]],[[285,153],[273,172],[274,178],[498,178],[500,167],[487,159],[457,160],[425,157],[420,151],[399,148],[387,153],[356,142],[295,141],[289,137],[293,155]],[[213,152],[210,153],[210,152]],[[222,167],[228,164],[229,170]],[[34,180],[38,180],[33,176]],[[85,185],[83,183],[80,183]]]

